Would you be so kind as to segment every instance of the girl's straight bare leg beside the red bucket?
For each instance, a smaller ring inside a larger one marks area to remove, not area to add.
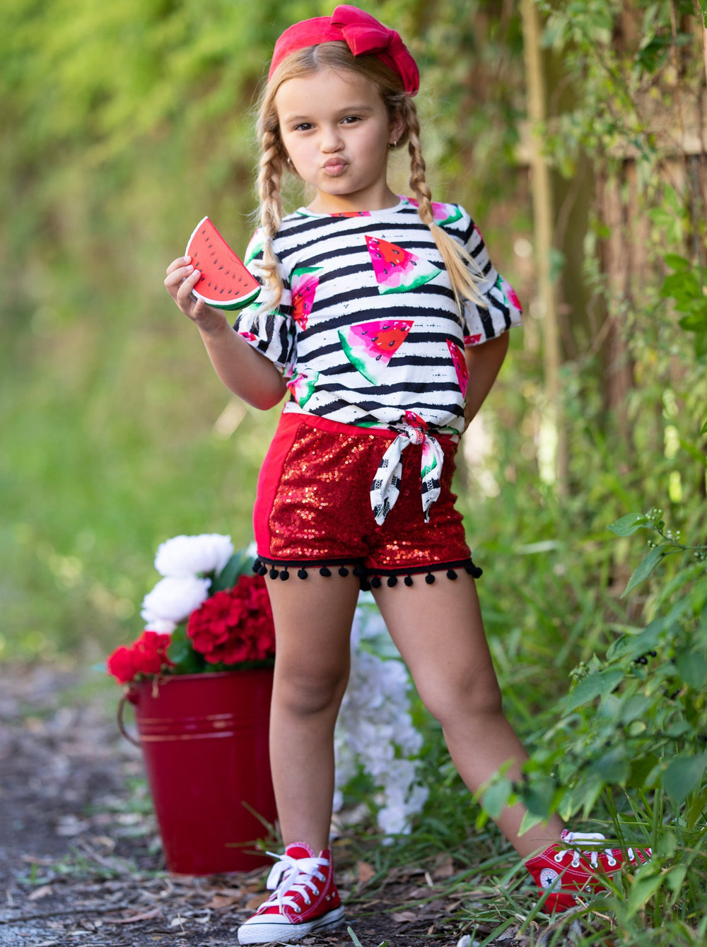
[[[334,727],[349,678],[358,597],[353,576],[267,583],[277,656],[270,714],[270,764],[285,845],[329,847],[334,796]]]

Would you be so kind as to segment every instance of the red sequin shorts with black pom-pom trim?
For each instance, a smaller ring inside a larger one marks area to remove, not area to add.
[[[420,491],[422,448],[403,451],[400,494],[385,523],[371,509],[371,482],[396,437],[385,430],[340,424],[326,418],[283,413],[263,461],[253,510],[258,560],[255,570],[288,579],[294,569],[324,576],[353,572],[363,588],[412,584],[413,575],[457,570],[479,576],[464,539],[462,514],[451,491],[457,444],[439,436],[444,449],[442,491],[425,522]]]

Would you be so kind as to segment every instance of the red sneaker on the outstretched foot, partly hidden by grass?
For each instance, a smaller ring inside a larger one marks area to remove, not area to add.
[[[600,848],[599,843],[606,839],[599,833],[565,830],[560,838],[563,844],[551,845],[525,863],[540,890],[553,891],[544,904],[548,911],[566,911],[576,905],[583,893],[590,897],[595,891],[606,891],[601,875],[614,875],[625,861],[621,849]],[[582,849],[576,847],[577,842]],[[650,849],[626,851],[628,862],[634,866],[643,865],[650,855]]]

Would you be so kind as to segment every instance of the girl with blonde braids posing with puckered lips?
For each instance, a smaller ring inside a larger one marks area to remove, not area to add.
[[[520,308],[466,211],[431,202],[418,82],[400,36],[355,7],[285,30],[261,102],[262,225],[246,255],[264,301],[231,328],[191,295],[190,259],[165,280],[231,391],[263,409],[289,393],[254,509],[278,640],[270,757],[285,851],[242,944],[343,920],[328,848],[333,734],[361,586],[470,791],[503,766],[519,778],[526,759],[501,709],[480,569],[450,487]],[[389,153],[404,145],[414,198],[388,185]],[[285,170],[314,197],[282,217]],[[580,852],[602,836],[571,834],[557,817],[521,836],[523,815],[507,807],[499,827],[538,886],[552,886],[550,907],[573,905],[600,886],[597,869],[624,859],[596,844]]]

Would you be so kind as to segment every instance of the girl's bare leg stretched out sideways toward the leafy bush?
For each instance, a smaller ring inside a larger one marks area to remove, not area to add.
[[[474,580],[464,574],[451,581],[441,573],[432,585],[398,583],[373,594],[467,787],[475,793],[509,761],[507,776],[518,778],[527,754],[501,707]],[[506,807],[498,825],[527,858],[557,841],[564,827],[553,816],[519,835],[524,814],[521,805]]]

